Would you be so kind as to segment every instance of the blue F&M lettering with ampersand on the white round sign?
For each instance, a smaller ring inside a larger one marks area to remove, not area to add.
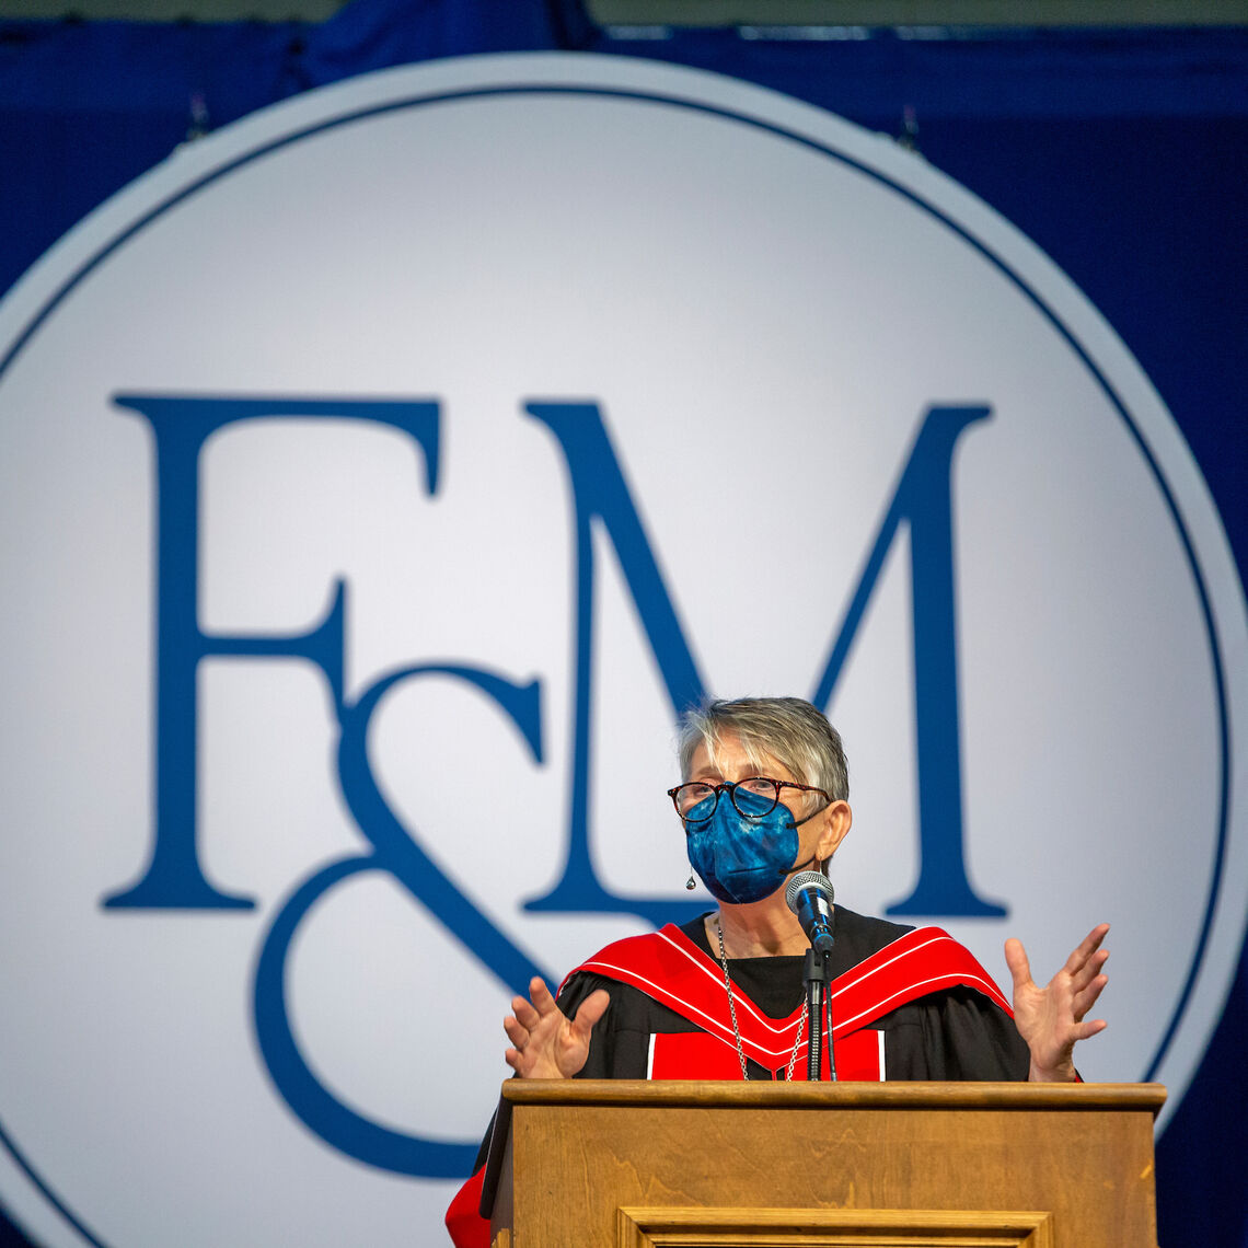
[[[439,404],[436,402],[308,402],[301,399],[185,398],[121,396],[117,402],[144,417],[156,447],[157,599],[156,625],[156,802],[151,861],[142,879],[105,902],[131,910],[251,909],[255,900],[225,892],[205,877],[196,837],[196,670],[207,656],[295,658],[323,676],[338,724],[337,774],[343,799],[368,849],[324,866],[301,885],[275,916],[257,963],[256,1030],[261,1052],[291,1108],[323,1139],[343,1152],[407,1174],[454,1177],[470,1168],[475,1146],[453,1146],[401,1136],[351,1112],[317,1080],[298,1051],[286,1003],[286,965],[291,942],[308,910],[343,881],[384,871],[479,955],[517,992],[539,967],[489,915],[447,877],[387,804],[368,760],[368,726],[384,695],[402,681],[446,676],[484,695],[543,763],[542,685],[509,680],[468,665],[417,664],[386,671],[349,703],[343,690],[347,584],[339,580],[332,604],[317,625],[298,634],[222,635],[200,628],[198,472],[205,443],[240,421],[338,417],[391,426],[409,437],[424,459],[426,489],[437,492]],[[528,403],[528,414],[558,443],[572,485],[577,533],[574,729],[569,779],[567,857],[558,882],[527,909],[552,914],[634,914],[660,925],[683,909],[665,896],[623,896],[603,882],[590,854],[594,646],[594,552],[590,528],[603,525],[663,679],[673,714],[708,693],[679,613],[664,583],[654,550],[625,484],[597,404]],[[845,619],[815,681],[814,698],[827,706],[845,656],[862,622],[885,558],[905,523],[910,532],[914,603],[914,670],[919,760],[919,877],[910,895],[887,907],[890,915],[940,915],[942,919],[1000,916],[1001,905],[971,887],[961,826],[957,663],[953,629],[953,568],[950,468],[953,447],[987,408],[934,408],[921,426],[900,482],[885,508]],[[921,640],[922,644],[919,644]],[[558,977],[558,976],[555,976]]]

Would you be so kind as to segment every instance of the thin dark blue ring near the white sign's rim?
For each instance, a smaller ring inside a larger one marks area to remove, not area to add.
[[[744,80],[731,79],[730,81],[745,86],[751,86],[751,84],[746,84],[744,82]],[[640,104],[686,109],[693,112],[703,112],[709,116],[715,116],[724,119],[726,121],[733,121],[750,126],[755,130],[763,131],[764,134],[770,134],[775,137],[786,140],[789,142],[795,142],[801,147],[806,147],[810,151],[815,151],[822,156],[831,157],[832,160],[839,161],[841,165],[856,170],[857,172],[871,178],[872,181],[900,195],[902,198],[909,200],[915,207],[920,208],[922,212],[926,212],[929,216],[940,221],[943,226],[946,226],[955,235],[957,235],[965,243],[967,243],[972,250],[977,251],[986,261],[988,261],[988,263],[992,265],[1008,282],[1011,282],[1036,307],[1036,310],[1041,313],[1041,316],[1048,321],[1048,323],[1053,327],[1053,329],[1058,333],[1058,336],[1067,343],[1067,346],[1070,346],[1070,348],[1075,352],[1075,354],[1083,362],[1085,367],[1096,379],[1097,386],[1104,393],[1106,398],[1108,398],[1111,406],[1118,412],[1128,432],[1134,439],[1139,449],[1139,453],[1143,456],[1144,462],[1148,464],[1148,468],[1157,482],[1158,489],[1161,490],[1161,494],[1166,500],[1166,505],[1169,508],[1171,515],[1174,519],[1174,527],[1177,528],[1179,537],[1182,539],[1183,552],[1187,557],[1187,562],[1191,568],[1192,579],[1196,583],[1196,589],[1201,600],[1201,610],[1204,617],[1206,630],[1209,638],[1209,653],[1213,661],[1213,675],[1214,675],[1214,684],[1217,688],[1218,720],[1219,720],[1219,730],[1222,738],[1221,751],[1219,751],[1219,765],[1222,771],[1222,782],[1219,786],[1219,817],[1218,817],[1219,830],[1218,830],[1217,850],[1214,854],[1213,874],[1209,884],[1209,900],[1206,907],[1204,921],[1201,925],[1201,935],[1197,941],[1196,952],[1192,958],[1191,968],[1188,971],[1187,982],[1183,986],[1183,991],[1179,995],[1178,1003],[1176,1005],[1171,1015],[1171,1020],[1166,1028],[1166,1032],[1161,1040],[1161,1043],[1157,1046],[1157,1051],[1154,1052],[1151,1062],[1148,1063],[1147,1072],[1144,1073],[1143,1077],[1143,1082],[1152,1081],[1166,1056],[1166,1052],[1168,1051],[1171,1043],[1174,1040],[1174,1035],[1178,1031],[1179,1022],[1182,1021],[1183,1013],[1187,1010],[1192,992],[1196,987],[1196,978],[1199,973],[1201,963],[1204,960],[1206,948],[1213,926],[1213,911],[1217,904],[1218,894],[1222,887],[1222,875],[1223,875],[1223,869],[1226,866],[1228,819],[1231,811],[1231,766],[1229,766],[1231,748],[1229,748],[1229,731],[1227,725],[1227,703],[1226,703],[1226,685],[1223,679],[1222,655],[1218,648],[1218,635],[1217,635],[1217,626],[1213,619],[1213,610],[1209,604],[1208,592],[1206,589],[1204,578],[1201,572],[1199,562],[1196,558],[1196,550],[1192,544],[1192,539],[1187,532],[1186,524],[1183,523],[1182,513],[1179,512],[1178,505],[1174,502],[1174,497],[1171,493],[1169,484],[1167,483],[1164,475],[1162,474],[1161,468],[1157,464],[1157,461],[1153,457],[1153,453],[1149,449],[1148,444],[1144,442],[1143,436],[1136,427],[1136,423],[1132,419],[1131,413],[1127,411],[1126,404],[1118,397],[1117,392],[1109,384],[1108,379],[1096,366],[1090,354],[1083,349],[1082,344],[1075,338],[1075,334],[1067,328],[1065,322],[1057,316],[1057,313],[1052,308],[1048,307],[1047,303],[1045,303],[1045,301],[1041,298],[1040,295],[1036,293],[1036,291],[1033,291],[1003,260],[1001,260],[1001,257],[998,257],[995,252],[992,252],[986,243],[980,242],[980,240],[976,238],[970,232],[968,228],[960,225],[957,221],[955,221],[952,217],[950,217],[940,208],[935,207],[935,205],[927,202],[916,191],[901,186],[892,178],[881,173],[879,170],[872,168],[870,165],[866,165],[855,157],[846,156],[844,152],[835,150],[827,144],[811,139],[809,135],[802,135],[791,130],[786,130],[784,126],[780,126],[775,122],[764,121],[760,117],[750,116],[749,114],[738,112],[733,109],[728,109],[720,105],[710,105],[706,104],[705,101],[690,99],[681,95],[674,95],[674,94],[669,95],[658,91],[643,91],[640,89],[542,82],[542,84],[495,85],[488,87],[464,87],[461,90],[438,91],[429,95],[407,96],[401,100],[388,101],[387,104],[372,105],[368,107],[357,109],[353,112],[342,114],[331,120],[319,121],[316,122],[314,125],[306,126],[301,130],[293,131],[292,134],[283,135],[281,139],[266,142],[262,146],[256,147],[242,156],[237,156],[233,160],[227,161],[225,165],[218,166],[217,168],[212,170],[208,173],[205,173],[202,177],[191,182],[188,186],[185,186],[180,191],[176,191],[166,196],[156,207],[151,208],[150,211],[144,213],[137,221],[127,226],[102,250],[97,251],[94,256],[91,256],[90,260],[84,261],[84,263],[80,265],[77,270],[75,270],[75,272],[71,273],[71,276],[66,278],[65,282],[61,283],[61,286],[56,290],[56,292],[51,296],[51,298],[32,316],[32,318],[27,322],[26,327],[17,334],[12,347],[4,356],[4,358],[0,358],[0,379],[4,378],[4,374],[7,371],[9,366],[16,359],[16,357],[20,354],[26,343],[35,336],[40,326],[52,314],[52,312],[59,307],[59,305],[65,300],[65,297],[79,285],[79,282],[84,281],[87,276],[90,276],[90,273],[94,270],[100,267],[115,252],[120,251],[120,248],[125,243],[127,243],[131,238],[134,238],[149,225],[151,225],[157,217],[162,216],[170,208],[190,198],[192,195],[196,195],[197,192],[210,186],[211,183],[216,182],[218,178],[233,173],[242,166],[250,165],[252,161],[260,160],[263,156],[268,156],[283,147],[287,147],[296,142],[301,142],[302,140],[310,139],[313,135],[333,130],[338,126],[353,125],[354,122],[358,121],[366,121],[368,119],[383,116],[386,114],[399,112],[406,109],[423,107],[424,105],[452,104],[452,102],[461,102],[464,100],[490,99],[507,95],[602,96],[605,99],[629,100]],[[792,97],[781,95],[781,99],[787,101]],[[806,105],[806,106],[811,109],[816,107],[814,105]],[[827,117],[832,117],[837,121],[842,120],[836,117],[835,114],[827,112],[826,110],[816,109],[816,111]],[[962,188],[961,183],[955,183],[955,185]],[[126,191],[122,191],[120,193],[126,193]],[[100,211],[99,208],[94,210],[91,216],[94,216],[95,212],[99,211]],[[89,216],[86,220],[90,221],[91,216]],[[54,247],[55,246],[59,245],[54,245]],[[1071,281],[1068,277],[1066,280]],[[1075,286],[1073,282],[1071,282],[1071,285],[1072,287]],[[1078,290],[1077,287],[1075,288]],[[1173,422],[1173,417],[1171,417],[1171,421]],[[1182,437],[1182,433],[1179,433],[1179,436]],[[1194,459],[1193,459],[1193,466],[1194,466]],[[1197,466],[1197,473],[1199,474],[1198,466]],[[52,1208],[55,1208],[61,1214],[61,1217],[65,1218],[65,1221],[75,1231],[77,1231],[89,1244],[92,1246],[92,1248],[107,1248],[106,1244],[104,1244],[100,1239],[97,1239],[84,1226],[84,1223],[56,1196],[56,1193],[51,1191],[51,1188],[42,1181],[42,1178],[40,1178],[34,1167],[26,1161],[21,1149],[17,1148],[16,1143],[10,1138],[2,1123],[0,1123],[0,1143],[2,1143],[4,1147],[9,1151],[17,1167],[26,1174],[30,1182],[44,1194],[49,1204],[51,1204]]]

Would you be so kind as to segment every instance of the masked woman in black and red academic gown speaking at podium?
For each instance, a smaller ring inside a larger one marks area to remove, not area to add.
[[[558,998],[539,978],[512,1002],[505,1057],[519,1078],[806,1077],[810,940],[786,900],[795,872],[826,875],[849,834],[836,730],[796,698],[743,698],[688,713],[681,782],[669,790],[693,872],[718,901],[693,922],[609,945]],[[827,958],[841,1080],[1073,1081],[1075,1045],[1106,985],[1108,925],[1088,932],[1046,987],[1006,941],[1013,1007],[970,952],[935,927],[835,909]],[[827,1075],[825,1055],[825,1077]],[[480,1173],[447,1216],[462,1248],[488,1244]]]

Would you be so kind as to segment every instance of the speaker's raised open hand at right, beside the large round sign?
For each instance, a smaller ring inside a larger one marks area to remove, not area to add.
[[[1101,973],[1109,956],[1101,948],[1108,931],[1108,924],[1093,927],[1043,988],[1031,977],[1022,942],[1013,937],[1006,941],[1006,962],[1015,981],[1015,1023],[1031,1050],[1030,1080],[1073,1082],[1076,1043],[1104,1031],[1103,1018],[1085,1022],[1083,1017],[1108,982]]]

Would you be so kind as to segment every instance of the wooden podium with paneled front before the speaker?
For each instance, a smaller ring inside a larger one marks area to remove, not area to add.
[[[509,1080],[494,1248],[1156,1248],[1153,1083]]]

